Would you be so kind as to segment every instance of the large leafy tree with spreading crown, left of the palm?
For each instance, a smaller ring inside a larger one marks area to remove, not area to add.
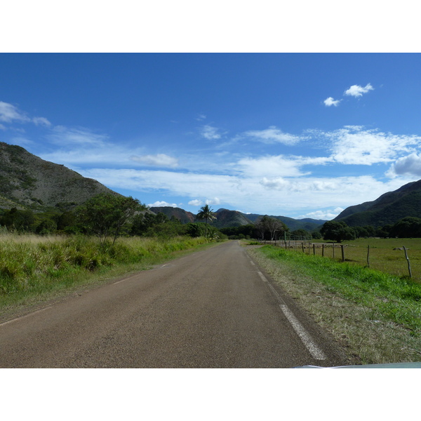
[[[97,235],[101,244],[107,236],[113,236],[114,245],[121,230],[135,213],[145,210],[146,206],[132,196],[117,196],[102,193],[93,196],[76,210],[76,218],[83,227]]]

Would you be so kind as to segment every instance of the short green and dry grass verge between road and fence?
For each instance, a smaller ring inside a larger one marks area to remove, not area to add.
[[[274,246],[248,251],[352,361],[421,361],[420,283]]]

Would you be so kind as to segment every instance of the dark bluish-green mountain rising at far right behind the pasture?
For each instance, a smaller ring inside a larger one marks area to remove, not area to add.
[[[421,218],[421,180],[382,194],[375,201],[349,206],[334,220],[344,221],[350,227],[382,227],[394,224],[406,216]]]

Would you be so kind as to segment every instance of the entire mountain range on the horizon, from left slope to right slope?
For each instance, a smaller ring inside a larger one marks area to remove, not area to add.
[[[85,178],[65,166],[44,161],[24,148],[0,142],[0,208],[46,211],[52,208],[74,208],[99,193],[113,192],[100,182]],[[154,213],[175,216],[182,223],[196,222],[196,215],[181,208],[152,207]],[[241,213],[238,210],[218,209],[215,227],[239,227],[255,223],[264,215]],[[269,215],[281,220],[291,231],[318,229],[326,220],[305,218],[295,220],[286,216]],[[349,206],[335,220],[349,226],[394,224],[406,216],[421,218],[421,180],[410,182],[394,192],[382,194],[375,201]]]

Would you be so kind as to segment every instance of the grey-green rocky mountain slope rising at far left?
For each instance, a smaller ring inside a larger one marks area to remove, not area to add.
[[[100,193],[118,194],[20,146],[0,142],[0,208],[72,208]]]

